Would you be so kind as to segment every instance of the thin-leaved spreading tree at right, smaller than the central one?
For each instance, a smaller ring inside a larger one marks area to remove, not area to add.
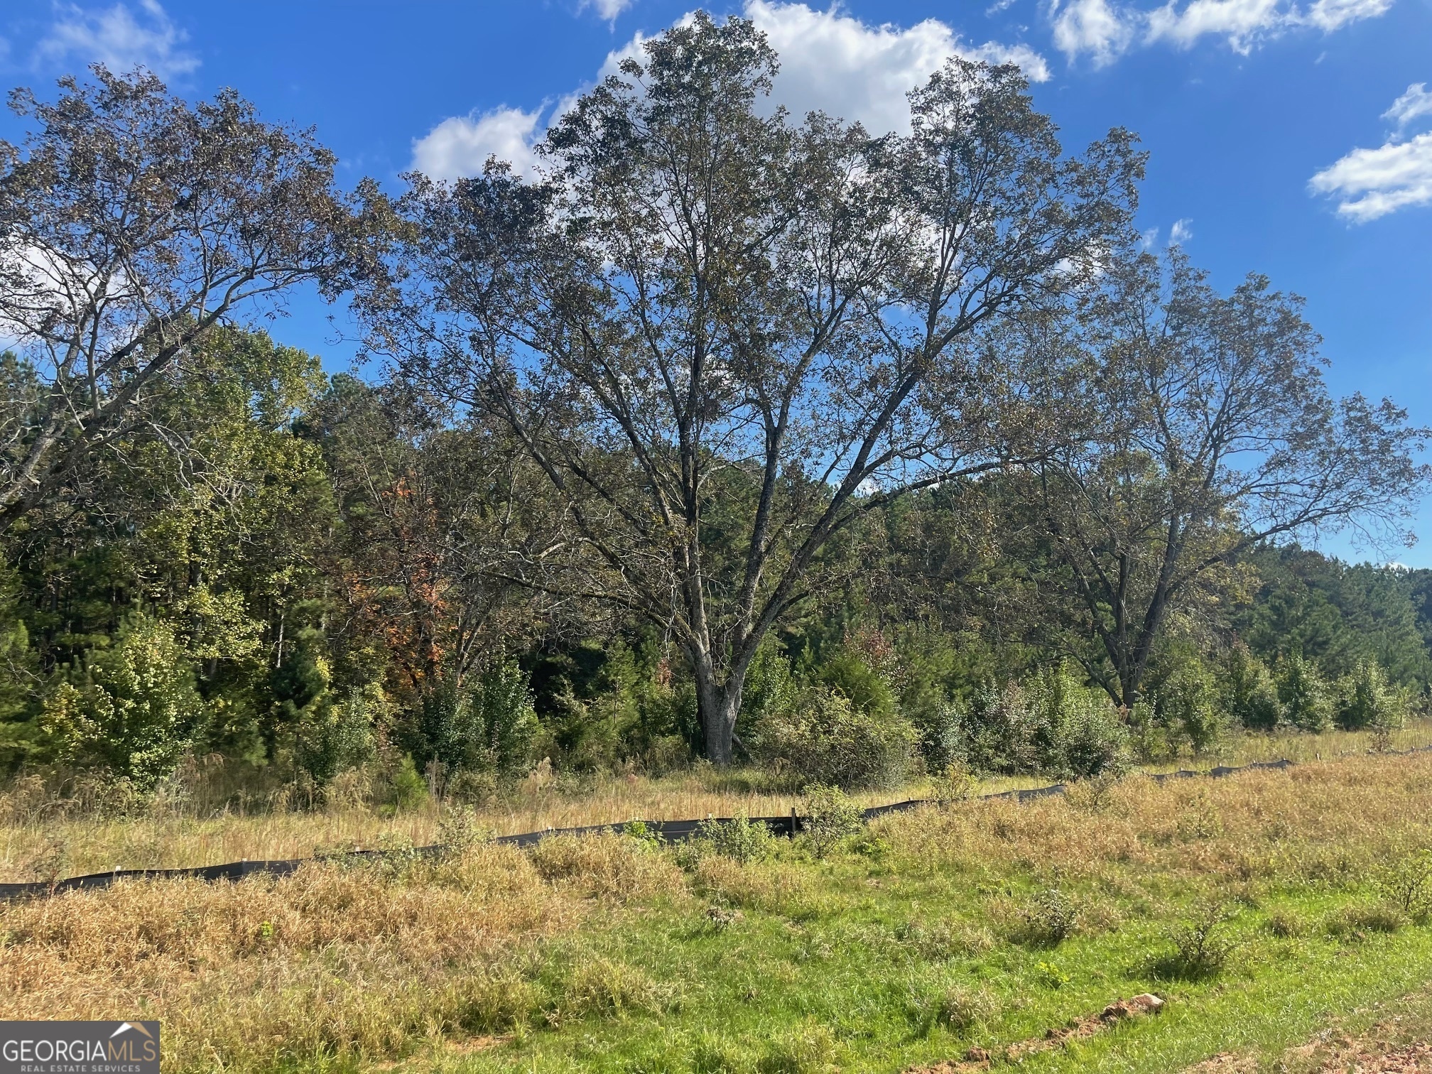
[[[1302,301],[1266,278],[1220,295],[1179,251],[1127,256],[1077,326],[1044,331],[1081,352],[1087,434],[1024,487],[1047,540],[1037,573],[1117,703],[1140,700],[1170,613],[1254,546],[1349,526],[1409,537],[1426,430],[1389,400],[1333,400]]]

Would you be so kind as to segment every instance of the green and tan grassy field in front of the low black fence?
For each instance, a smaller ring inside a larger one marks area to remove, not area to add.
[[[928,808],[823,859],[474,842],[7,905],[0,1017],[158,1017],[169,1071],[1315,1070],[1332,1025],[1432,1024],[1399,1000],[1432,981],[1429,846],[1428,753]]]

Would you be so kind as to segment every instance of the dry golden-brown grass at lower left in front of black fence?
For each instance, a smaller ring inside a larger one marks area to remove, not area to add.
[[[0,911],[0,1017],[160,1017],[166,1068],[266,1068],[321,1054],[400,1055],[526,1022],[534,945],[606,899],[680,891],[634,841],[484,845],[404,868],[308,865],[282,879],[122,884]],[[584,964],[563,1007],[656,1002]],[[561,1010],[551,1010],[553,1020]]]

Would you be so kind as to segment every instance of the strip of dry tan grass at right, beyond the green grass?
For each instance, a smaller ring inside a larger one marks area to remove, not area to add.
[[[876,831],[925,868],[1021,862],[1103,876],[1108,865],[1163,876],[1339,881],[1432,845],[1432,753],[1345,758],[1227,779],[1130,778],[1067,798],[921,811]]]

